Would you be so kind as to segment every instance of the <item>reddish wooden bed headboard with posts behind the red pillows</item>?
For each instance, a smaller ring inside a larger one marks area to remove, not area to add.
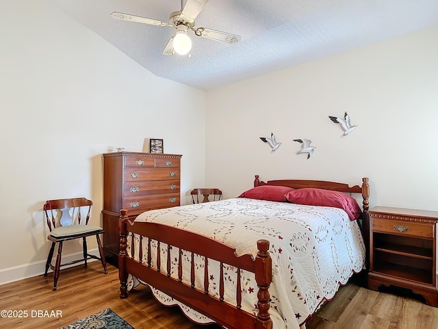
[[[370,185],[368,184],[368,178],[362,178],[361,186],[349,186],[344,183],[326,182],[324,180],[268,180],[263,182],[259,180],[259,175],[255,175],[254,187],[261,185],[279,185],[288,186],[292,188],[324,188],[324,190],[339,191],[344,193],[360,193],[362,195],[363,212],[367,212],[370,208]]]

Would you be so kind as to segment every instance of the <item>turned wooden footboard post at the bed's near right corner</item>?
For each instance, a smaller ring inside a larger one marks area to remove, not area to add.
[[[257,176],[256,176],[257,177]],[[269,315],[270,308],[270,294],[269,286],[272,282],[272,260],[268,252],[269,241],[259,240],[257,241],[257,257],[255,258],[255,280],[257,282],[257,287],[259,287],[259,292],[257,293],[257,308],[259,313],[257,313],[257,329],[272,329],[272,319]]]

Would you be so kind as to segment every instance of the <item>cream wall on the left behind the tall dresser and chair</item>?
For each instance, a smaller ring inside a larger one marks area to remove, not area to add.
[[[185,204],[205,180],[205,92],[155,77],[45,1],[1,4],[4,282],[44,271],[50,245],[45,200],[88,197],[92,223],[101,223],[102,153],[147,151],[144,138],[164,138],[165,153],[183,154]],[[179,108],[176,99],[190,106]],[[79,243],[69,242],[64,253],[79,252]],[[7,278],[10,273],[16,277]]]

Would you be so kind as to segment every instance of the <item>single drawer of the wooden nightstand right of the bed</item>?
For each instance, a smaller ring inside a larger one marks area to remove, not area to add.
[[[416,236],[423,239],[434,238],[434,229],[431,223],[372,218],[372,230],[373,232]]]

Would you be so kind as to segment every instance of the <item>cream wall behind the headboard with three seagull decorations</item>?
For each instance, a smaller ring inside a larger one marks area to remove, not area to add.
[[[207,93],[207,184],[235,197],[263,180],[360,184],[370,206],[438,210],[438,27]],[[339,138],[331,116],[359,125]],[[274,132],[270,154],[259,137]],[[294,138],[315,149],[296,155]]]

